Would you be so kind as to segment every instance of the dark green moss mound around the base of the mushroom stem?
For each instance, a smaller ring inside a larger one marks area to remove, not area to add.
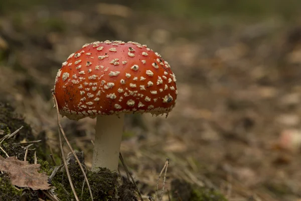
[[[81,200],[91,200],[89,189],[86,183],[84,183],[84,176],[79,165],[77,163],[70,163],[68,167],[79,198]],[[133,184],[124,182],[122,185],[119,185],[117,182],[118,175],[115,172],[111,172],[106,168],[99,168],[96,172],[87,171],[86,175],[94,200],[127,201],[132,200],[132,198],[135,199]],[[51,183],[56,187],[55,192],[62,201],[74,199],[66,171],[63,167],[55,174]]]

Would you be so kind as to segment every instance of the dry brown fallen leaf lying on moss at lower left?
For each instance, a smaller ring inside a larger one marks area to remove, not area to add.
[[[38,172],[40,164],[29,164],[28,161],[18,160],[15,156],[6,159],[0,157],[0,170],[10,175],[13,185],[30,187],[33,190],[50,188],[50,184],[47,183],[48,176],[44,172]]]

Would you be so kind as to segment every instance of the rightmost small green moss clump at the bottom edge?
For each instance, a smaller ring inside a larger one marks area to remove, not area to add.
[[[189,201],[227,201],[224,195],[214,189],[194,189]]]

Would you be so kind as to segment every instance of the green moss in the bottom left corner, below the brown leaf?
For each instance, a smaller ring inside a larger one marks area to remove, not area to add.
[[[0,175],[0,200],[19,200],[21,190],[17,190],[11,183],[8,174]]]

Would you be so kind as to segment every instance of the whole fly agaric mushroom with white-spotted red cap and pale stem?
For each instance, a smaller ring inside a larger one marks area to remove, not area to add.
[[[131,41],[85,44],[62,64],[54,92],[63,117],[97,117],[92,171],[117,170],[124,114],[168,115],[178,94],[169,63]]]

